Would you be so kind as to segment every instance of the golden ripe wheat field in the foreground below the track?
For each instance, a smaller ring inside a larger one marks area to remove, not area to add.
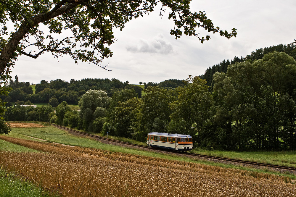
[[[0,151],[0,166],[62,196],[296,196],[287,177],[66,147],[0,135],[44,153]]]

